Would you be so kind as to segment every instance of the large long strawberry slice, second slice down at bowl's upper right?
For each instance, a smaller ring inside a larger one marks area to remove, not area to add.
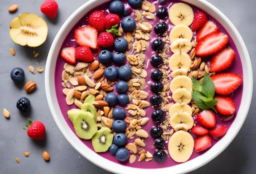
[[[227,35],[221,32],[213,32],[197,42],[195,51],[198,56],[208,56],[220,51],[227,43]]]

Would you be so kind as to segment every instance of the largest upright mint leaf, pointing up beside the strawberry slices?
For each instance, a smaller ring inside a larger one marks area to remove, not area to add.
[[[203,78],[202,93],[209,99],[213,99],[215,94],[215,85],[207,74]]]

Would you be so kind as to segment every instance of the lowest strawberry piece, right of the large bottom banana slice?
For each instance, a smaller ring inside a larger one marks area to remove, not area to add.
[[[202,135],[195,140],[194,148],[196,152],[206,150],[211,146],[211,137],[209,135]]]

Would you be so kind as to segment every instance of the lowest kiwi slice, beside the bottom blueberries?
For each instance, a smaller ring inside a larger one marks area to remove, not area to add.
[[[101,127],[92,138],[95,152],[106,152],[112,144],[114,135],[108,127]]]

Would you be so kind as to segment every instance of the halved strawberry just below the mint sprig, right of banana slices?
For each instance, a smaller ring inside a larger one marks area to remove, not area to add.
[[[203,110],[196,115],[196,120],[207,128],[214,128],[216,124],[216,118],[213,111]]]

